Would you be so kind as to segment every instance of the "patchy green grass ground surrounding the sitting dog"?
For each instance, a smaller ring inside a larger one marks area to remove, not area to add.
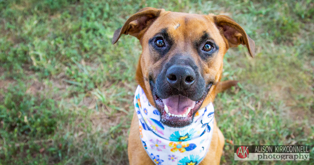
[[[314,163],[314,2],[0,0],[0,164],[127,164],[132,36],[114,30],[143,7],[226,14],[256,43],[230,49],[216,120],[222,164]],[[235,145],[310,145],[310,161],[238,162]]]

